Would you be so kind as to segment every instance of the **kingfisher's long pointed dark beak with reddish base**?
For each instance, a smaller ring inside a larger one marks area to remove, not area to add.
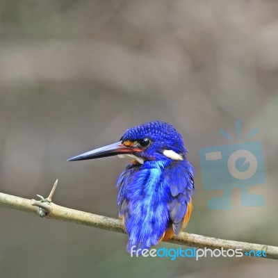
[[[122,141],[115,142],[114,144],[93,149],[90,152],[85,152],[74,156],[67,161],[85,161],[87,159],[94,159],[106,156],[116,156],[117,154],[133,154],[134,152],[140,152],[142,149],[134,149],[133,147],[126,147],[122,145]]]

